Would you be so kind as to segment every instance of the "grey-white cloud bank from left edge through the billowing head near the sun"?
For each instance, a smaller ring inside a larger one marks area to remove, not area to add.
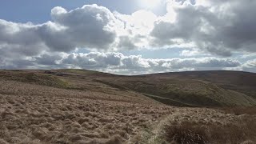
[[[23,55],[70,52],[77,47],[110,50],[116,41],[117,20],[106,7],[90,5],[70,11],[54,7],[51,16],[53,22],[40,25],[0,20],[0,50]]]

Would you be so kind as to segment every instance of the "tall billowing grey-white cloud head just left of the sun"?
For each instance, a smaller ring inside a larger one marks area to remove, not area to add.
[[[106,7],[86,5],[81,8],[66,11],[55,7],[51,12],[54,23],[66,27],[59,33],[46,33],[42,38],[53,49],[62,50],[59,43],[74,47],[89,47],[96,49],[109,49],[115,41],[114,26],[118,25],[114,14]],[[45,32],[46,30],[43,30]],[[55,38],[58,40],[52,41]]]

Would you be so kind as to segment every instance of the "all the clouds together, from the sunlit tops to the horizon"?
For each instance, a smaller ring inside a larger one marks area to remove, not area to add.
[[[86,5],[74,10],[54,7],[52,20],[37,25],[0,19],[0,67],[73,67],[145,73],[228,67],[254,69],[254,61],[241,64],[235,58],[191,57],[230,56],[234,52],[254,54],[256,2],[166,1],[167,13],[163,16],[147,10],[127,15],[103,6]],[[190,58],[149,59],[119,53],[164,46],[190,48],[180,54]],[[96,52],[70,54],[79,48]]]

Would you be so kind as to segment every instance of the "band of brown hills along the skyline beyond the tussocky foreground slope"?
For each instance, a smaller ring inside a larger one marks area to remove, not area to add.
[[[0,79],[131,96],[134,101],[154,99],[170,106],[256,106],[256,74],[237,71],[122,76],[91,70],[0,70]]]

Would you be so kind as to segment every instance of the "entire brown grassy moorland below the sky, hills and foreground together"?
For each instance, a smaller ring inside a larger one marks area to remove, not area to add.
[[[0,144],[255,143],[255,79],[0,70]]]

